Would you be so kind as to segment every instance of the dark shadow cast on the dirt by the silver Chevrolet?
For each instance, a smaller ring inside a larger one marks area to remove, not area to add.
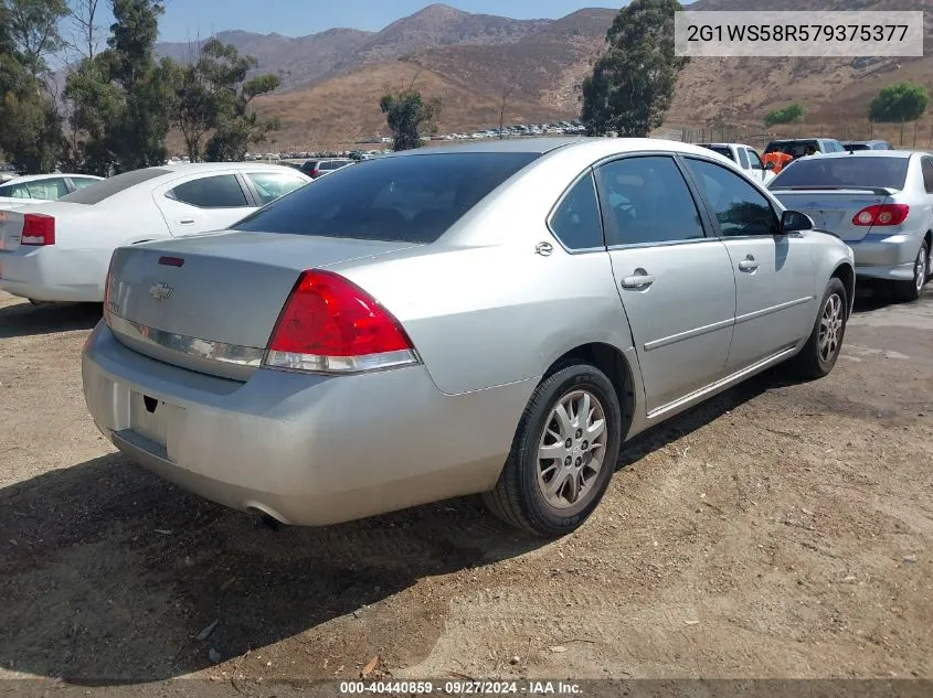
[[[733,388],[636,439],[622,465],[783,385],[771,372]],[[448,599],[399,608],[396,593],[548,543],[498,523],[477,497],[274,530],[119,454],[0,490],[0,667],[87,686],[183,676],[295,636],[309,647],[420,636],[427,653]],[[381,615],[360,637],[353,623],[367,613]]]

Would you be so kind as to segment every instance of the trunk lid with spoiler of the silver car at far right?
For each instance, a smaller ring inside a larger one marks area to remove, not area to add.
[[[871,226],[855,225],[852,218],[862,208],[876,204],[897,203],[898,190],[882,187],[792,187],[773,189],[771,193],[792,211],[813,218],[816,227],[838,235],[844,241],[857,243],[871,232]]]

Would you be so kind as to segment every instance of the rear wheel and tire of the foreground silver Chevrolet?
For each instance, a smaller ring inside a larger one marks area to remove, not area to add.
[[[548,375],[519,421],[489,509],[539,536],[571,533],[605,494],[622,440],[622,409],[595,366],[564,365]]]

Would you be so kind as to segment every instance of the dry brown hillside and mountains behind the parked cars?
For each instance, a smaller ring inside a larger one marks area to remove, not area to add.
[[[765,0],[700,0],[696,10],[774,9]],[[784,0],[782,10],[809,10],[808,0]],[[827,10],[927,10],[933,0],[825,0]],[[572,118],[579,85],[604,46],[615,11],[580,10],[559,20],[512,20],[433,4],[382,31],[332,29],[289,39],[226,32],[220,39],[255,55],[259,69],[277,73],[283,89],[256,100],[277,116],[278,149],[330,148],[388,135],[379,98],[414,84],[439,97],[443,132],[498,126],[502,95],[507,122]],[[929,41],[929,40],[927,40]],[[183,60],[188,44],[160,44]],[[933,55],[922,58],[703,58],[681,74],[665,126],[713,125],[761,130],[763,116],[792,100],[807,106],[807,125],[841,132],[861,122],[868,103],[895,80],[933,87]],[[855,135],[855,131],[854,131]]]

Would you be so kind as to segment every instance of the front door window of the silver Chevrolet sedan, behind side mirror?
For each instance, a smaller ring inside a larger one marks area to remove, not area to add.
[[[734,172],[706,160],[688,158],[687,167],[710,203],[722,235],[777,233],[778,221],[771,203],[749,182]]]

